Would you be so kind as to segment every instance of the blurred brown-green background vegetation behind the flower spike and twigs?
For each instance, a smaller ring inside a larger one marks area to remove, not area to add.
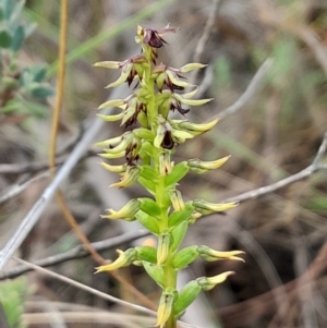
[[[191,109],[189,117],[201,122],[219,114],[240,98],[267,58],[272,59],[272,66],[239,111],[179,148],[175,161],[232,155],[219,172],[185,179],[180,185],[185,199],[204,197],[218,203],[310,166],[327,130],[327,3],[322,0],[69,1],[58,158],[70,155],[95,119],[96,108],[110,98],[110,90],[104,86],[117,72],[93,68],[93,63],[138,53],[136,25],[160,28],[169,22],[181,29],[167,38],[169,45],[160,60],[174,68],[192,62],[214,5],[217,13],[199,56],[208,68],[193,77],[202,86],[203,96],[215,101]],[[27,0],[25,5],[0,1],[1,248],[50,183],[44,172],[57,88],[59,14],[59,1]],[[114,123],[99,131],[105,137],[120,133]],[[118,178],[109,177],[98,166],[95,153],[88,150],[95,149],[92,145],[85,149],[89,156],[74,168],[62,192],[82,230],[94,242],[135,229],[100,220],[99,214],[108,207],[119,208],[117,204],[143,191],[137,185],[119,193],[108,189],[111,179]],[[34,163],[40,169],[15,171]],[[36,177],[19,195],[4,197]],[[193,313],[205,317],[207,325],[202,327],[326,327],[327,258],[320,256],[327,233],[326,181],[326,170],[317,171],[275,193],[244,202],[226,216],[210,216],[192,227],[185,244],[246,252],[245,265],[196,262],[190,268],[189,275],[196,277],[237,271],[228,283],[206,293],[204,314],[201,309]],[[17,255],[33,262],[77,244],[53,199]],[[101,255],[116,257],[114,250]],[[306,280],[299,279],[317,260],[323,268]],[[7,269],[15,265],[11,262]],[[92,257],[86,257],[50,269],[140,303],[111,277],[94,276],[95,266]],[[121,275],[156,303],[159,290],[142,269],[122,270]],[[130,311],[38,272],[1,282],[0,301],[9,327],[138,327],[131,324]],[[65,320],[63,313],[70,311],[75,316]],[[104,311],[112,317],[104,319]],[[41,316],[45,313],[51,315]],[[89,315],[82,317],[78,313]],[[118,323],[114,313],[121,314]]]

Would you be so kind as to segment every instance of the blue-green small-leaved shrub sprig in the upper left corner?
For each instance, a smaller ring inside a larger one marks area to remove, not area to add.
[[[46,66],[23,66],[19,51],[35,25],[26,25],[22,19],[25,1],[0,0],[0,98],[3,114],[43,117],[46,107],[39,100],[53,94],[45,82]]]

